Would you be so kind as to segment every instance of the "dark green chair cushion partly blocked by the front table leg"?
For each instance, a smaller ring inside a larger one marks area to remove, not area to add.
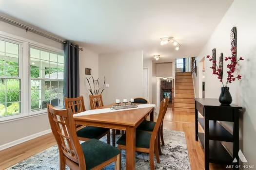
[[[151,133],[147,131],[136,130],[136,147],[137,148],[149,148],[151,139]],[[121,136],[118,141],[118,145],[126,145],[126,135]]]

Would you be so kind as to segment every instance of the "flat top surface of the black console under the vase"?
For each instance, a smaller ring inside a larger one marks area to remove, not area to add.
[[[203,106],[219,106],[219,107],[233,107],[236,109],[242,109],[241,106],[237,106],[236,104],[230,105],[221,105],[218,99],[210,99],[210,98],[195,98],[196,102],[201,103]]]

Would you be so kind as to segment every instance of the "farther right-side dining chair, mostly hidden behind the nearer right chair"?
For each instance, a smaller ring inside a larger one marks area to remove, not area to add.
[[[163,110],[163,118],[164,118],[164,116],[166,114],[166,111],[167,111],[167,108],[168,108],[169,99],[168,98],[164,98],[164,101],[166,102],[167,106]],[[143,131],[148,131],[148,132],[153,132],[153,130],[155,128],[155,125],[156,125],[155,121],[144,120],[144,121],[142,121],[140,123],[140,125],[137,127],[137,129],[143,130]],[[164,145],[164,140],[163,140],[163,119],[161,121],[160,129],[159,129],[159,133],[158,133],[158,151],[159,151],[159,154],[162,155],[161,147],[160,147],[160,139],[161,139],[162,145]]]

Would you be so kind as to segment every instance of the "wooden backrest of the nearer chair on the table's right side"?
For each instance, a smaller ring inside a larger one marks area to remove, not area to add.
[[[160,128],[160,126],[162,124],[162,120],[163,120],[164,115],[165,115],[164,111],[166,110],[167,106],[168,106],[168,102],[166,100],[161,101],[157,123],[156,123],[156,125],[154,127],[154,130],[152,132],[151,139],[150,139],[150,147],[154,147],[155,139],[157,137],[159,128]]]

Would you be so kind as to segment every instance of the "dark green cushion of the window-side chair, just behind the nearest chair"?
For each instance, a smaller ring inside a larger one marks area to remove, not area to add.
[[[85,137],[89,139],[98,138],[99,136],[106,133],[109,129],[106,128],[99,128],[99,127],[93,127],[93,126],[86,126],[82,129],[80,129],[77,132],[77,135],[79,137]]]

